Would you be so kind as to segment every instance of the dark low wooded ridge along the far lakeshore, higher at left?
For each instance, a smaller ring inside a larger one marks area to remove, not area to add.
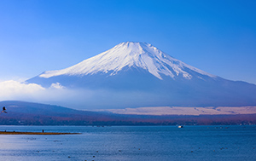
[[[1,125],[211,125],[256,124],[256,114],[232,115],[162,115],[114,114],[112,112],[79,111],[26,101],[0,101],[8,113],[2,113]]]

